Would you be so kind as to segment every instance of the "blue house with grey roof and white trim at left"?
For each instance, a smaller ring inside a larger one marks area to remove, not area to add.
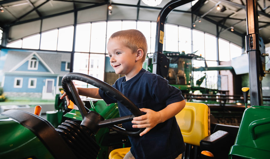
[[[54,99],[64,74],[69,73],[69,53],[8,51],[2,87],[7,97]]]

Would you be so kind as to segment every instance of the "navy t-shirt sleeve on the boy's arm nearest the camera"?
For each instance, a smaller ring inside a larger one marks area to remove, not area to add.
[[[168,84],[168,80],[161,76],[156,76],[152,85],[152,97],[157,103],[166,103],[166,106],[172,103],[184,100],[182,92]]]

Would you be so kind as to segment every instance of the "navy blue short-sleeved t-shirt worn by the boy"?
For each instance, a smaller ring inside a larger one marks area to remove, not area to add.
[[[126,81],[119,78],[114,88],[128,97],[138,108],[160,111],[167,105],[184,100],[181,91],[168,84],[168,80],[142,69],[136,76]],[[118,101],[99,89],[100,96],[107,104]],[[118,102],[120,116],[132,113]],[[132,123],[122,123],[126,130],[136,131]],[[185,151],[185,145],[176,118],[159,123],[143,136],[129,136],[131,153],[136,159],[175,159]]]

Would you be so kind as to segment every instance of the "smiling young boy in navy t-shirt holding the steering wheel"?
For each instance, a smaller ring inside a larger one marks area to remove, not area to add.
[[[168,81],[142,68],[147,53],[145,36],[139,30],[122,30],[110,37],[107,44],[110,64],[116,74],[124,74],[114,88],[128,97],[144,115],[134,117],[132,122],[122,123],[126,130],[146,128],[140,136],[129,137],[131,150],[124,159],[175,159],[185,150],[183,137],[174,117],[185,106],[181,91]],[[106,103],[116,103],[98,88],[77,88],[78,93]],[[66,95],[63,94],[61,99]],[[67,98],[67,104],[69,99]],[[118,103],[120,116],[131,112]]]

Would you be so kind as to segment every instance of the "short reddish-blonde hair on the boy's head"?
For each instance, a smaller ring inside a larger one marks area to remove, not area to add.
[[[117,38],[124,42],[124,44],[131,49],[132,53],[137,52],[138,49],[143,50],[142,62],[144,62],[147,53],[147,42],[142,32],[136,29],[122,30],[113,33],[110,39]],[[109,39],[109,40],[110,40]]]

